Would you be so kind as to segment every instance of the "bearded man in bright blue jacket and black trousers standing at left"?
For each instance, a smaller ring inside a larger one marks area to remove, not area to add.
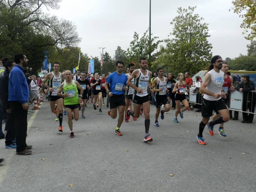
[[[24,54],[15,54],[13,67],[9,76],[9,101],[15,120],[16,133],[16,154],[28,155],[31,154],[31,145],[26,143],[27,135],[27,117],[28,117],[28,82],[23,73],[24,68],[28,63],[28,59]]]

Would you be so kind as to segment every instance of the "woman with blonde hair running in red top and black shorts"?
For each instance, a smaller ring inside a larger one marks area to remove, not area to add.
[[[180,118],[183,119],[183,112],[186,111],[189,107],[188,100],[185,97],[186,85],[183,81],[183,73],[178,74],[178,82],[175,83],[172,92],[176,92],[175,103],[177,106],[177,110],[175,111],[175,117],[173,118],[173,121],[175,123],[179,123],[177,118],[178,114],[180,113]],[[180,110],[180,102],[184,104],[184,108],[182,109],[182,111]]]

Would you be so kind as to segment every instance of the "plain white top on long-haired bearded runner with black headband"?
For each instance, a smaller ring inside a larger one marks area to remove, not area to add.
[[[211,93],[215,93],[215,94],[221,93],[221,88],[224,83],[224,79],[223,79],[224,72],[220,71],[219,73],[217,73],[216,71],[214,71],[212,69],[211,71],[209,71],[207,73],[209,73],[211,75],[211,80],[210,80],[209,84],[207,85],[206,89],[208,91],[210,91]],[[221,97],[215,98],[215,97],[204,94],[204,99],[207,99],[209,101],[217,101],[220,98]]]

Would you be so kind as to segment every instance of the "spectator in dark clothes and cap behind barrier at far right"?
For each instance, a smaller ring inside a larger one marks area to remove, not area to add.
[[[249,75],[241,75],[242,82],[240,83],[240,87],[236,90],[243,92],[243,111],[247,111],[254,113],[255,106],[255,93],[249,92],[254,91],[255,87],[252,81],[249,79]],[[247,99],[248,98],[248,99]],[[252,123],[253,114],[243,112],[243,121],[242,123]]]

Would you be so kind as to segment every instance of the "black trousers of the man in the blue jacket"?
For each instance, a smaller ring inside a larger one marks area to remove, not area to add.
[[[16,134],[16,151],[24,151],[27,147],[26,137],[28,129],[28,111],[22,108],[22,105],[18,101],[11,101],[12,113],[14,116],[14,127]]]

